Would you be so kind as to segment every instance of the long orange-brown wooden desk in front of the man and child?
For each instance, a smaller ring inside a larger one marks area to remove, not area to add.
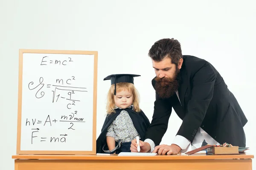
[[[15,170],[252,170],[253,155],[14,155]]]

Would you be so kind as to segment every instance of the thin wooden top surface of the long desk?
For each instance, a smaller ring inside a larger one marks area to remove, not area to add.
[[[75,160],[166,160],[166,159],[252,159],[254,156],[250,153],[239,155],[157,155],[157,156],[117,156],[111,154],[99,155],[13,155],[12,159],[75,159]]]

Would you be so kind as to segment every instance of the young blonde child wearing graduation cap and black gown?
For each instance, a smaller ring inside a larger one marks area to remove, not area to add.
[[[97,153],[131,152],[131,141],[144,136],[150,122],[139,107],[139,94],[134,86],[134,74],[112,74],[102,132],[96,141]]]

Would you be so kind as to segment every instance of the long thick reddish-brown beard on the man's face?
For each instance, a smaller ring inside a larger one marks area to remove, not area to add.
[[[176,72],[173,78],[156,77],[155,80],[156,80],[155,89],[156,89],[157,95],[162,99],[169,98],[173,94],[175,94],[179,88],[180,71],[177,70],[176,68]]]

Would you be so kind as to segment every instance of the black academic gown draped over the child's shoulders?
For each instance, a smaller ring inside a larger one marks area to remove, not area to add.
[[[96,141],[96,153],[105,153],[102,150],[102,147],[105,145],[105,148],[108,150],[108,145],[106,141],[106,133],[108,127],[111,125],[113,120],[116,119],[116,117],[121,113],[122,110],[125,110],[128,112],[129,116],[131,117],[131,120],[134,124],[135,129],[139,133],[142,141],[145,140],[145,133],[147,128],[150,125],[150,122],[147,118],[147,116],[144,114],[144,112],[141,110],[140,112],[135,112],[132,110],[132,108],[126,108],[126,109],[115,109],[116,113],[112,113],[106,116],[105,122],[102,126],[102,131]]]

